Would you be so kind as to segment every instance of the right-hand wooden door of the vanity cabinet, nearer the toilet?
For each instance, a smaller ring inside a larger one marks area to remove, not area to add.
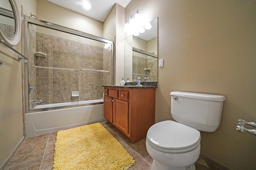
[[[128,128],[128,102],[114,99],[113,101],[113,123],[126,135],[129,135]]]

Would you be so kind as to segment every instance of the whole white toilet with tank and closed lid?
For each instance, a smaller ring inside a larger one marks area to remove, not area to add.
[[[224,96],[171,92],[175,121],[152,125],[146,149],[153,158],[151,170],[195,170],[200,155],[200,131],[214,132],[220,125]]]

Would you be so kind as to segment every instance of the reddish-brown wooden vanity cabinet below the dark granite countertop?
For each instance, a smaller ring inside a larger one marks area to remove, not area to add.
[[[132,143],[155,123],[155,88],[104,87],[104,117]]]

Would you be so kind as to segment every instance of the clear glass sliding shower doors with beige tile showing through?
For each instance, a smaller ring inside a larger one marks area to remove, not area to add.
[[[29,23],[29,110],[101,99],[112,80],[112,45],[105,44]]]

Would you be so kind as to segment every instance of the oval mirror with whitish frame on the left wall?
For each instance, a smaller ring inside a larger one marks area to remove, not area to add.
[[[8,45],[20,41],[21,24],[15,0],[0,1],[0,38]]]

